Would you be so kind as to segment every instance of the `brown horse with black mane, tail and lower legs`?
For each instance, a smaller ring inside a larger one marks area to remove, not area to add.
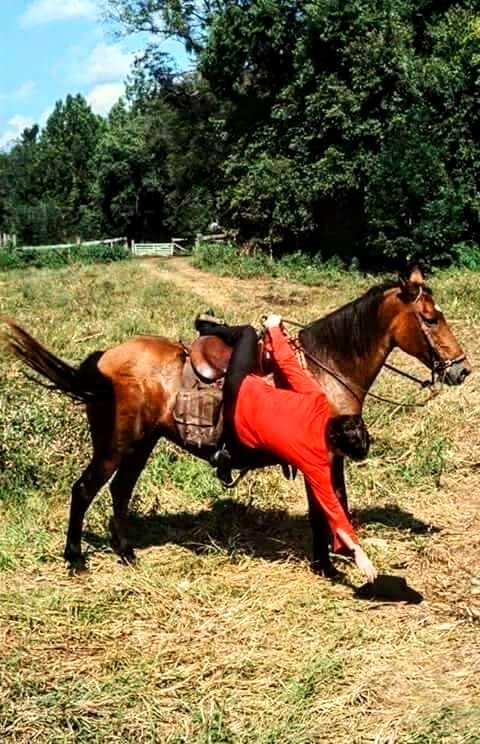
[[[135,483],[160,437],[183,446],[173,410],[182,384],[184,347],[160,336],[142,336],[95,352],[73,368],[17,325],[9,325],[13,352],[46,377],[53,388],[86,404],[93,455],[72,488],[65,559],[72,565],[82,564],[85,513],[114,475],[110,483],[112,545],[124,560],[133,560],[127,517]],[[373,287],[354,302],[311,323],[301,331],[300,340],[333,413],[361,411],[368,389],[395,347],[421,360],[448,384],[458,385],[470,373],[462,349],[418,270],[406,281]],[[211,452],[189,451],[200,457]],[[347,508],[340,457],[332,463],[332,482]],[[326,523],[308,489],[307,495],[313,532],[312,566],[331,575]]]

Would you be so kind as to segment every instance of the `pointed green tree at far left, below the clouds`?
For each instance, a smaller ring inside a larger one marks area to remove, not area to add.
[[[92,156],[103,128],[82,96],[59,101],[45,129],[26,129],[0,163],[1,227],[24,244],[97,234]]]

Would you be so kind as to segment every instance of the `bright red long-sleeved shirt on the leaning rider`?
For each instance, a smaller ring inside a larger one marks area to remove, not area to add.
[[[332,488],[325,430],[331,416],[326,396],[301,368],[281,328],[269,329],[273,359],[290,389],[271,387],[248,375],[238,392],[235,431],[247,447],[267,450],[302,471],[335,537],[341,528],[358,542]]]

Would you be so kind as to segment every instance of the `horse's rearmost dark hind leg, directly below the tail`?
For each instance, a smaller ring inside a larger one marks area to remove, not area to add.
[[[72,487],[70,519],[64,557],[71,566],[83,566],[81,540],[83,519],[93,499],[118,467],[118,458],[94,455]]]

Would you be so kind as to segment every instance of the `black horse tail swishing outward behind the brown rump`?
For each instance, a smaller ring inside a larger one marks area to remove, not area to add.
[[[51,382],[45,387],[65,393],[79,403],[91,403],[111,391],[108,378],[97,368],[102,352],[94,352],[78,368],[71,367],[16,323],[11,320],[6,320],[6,323],[10,329],[7,335],[9,349],[30,369]],[[43,384],[36,378],[32,379]]]

